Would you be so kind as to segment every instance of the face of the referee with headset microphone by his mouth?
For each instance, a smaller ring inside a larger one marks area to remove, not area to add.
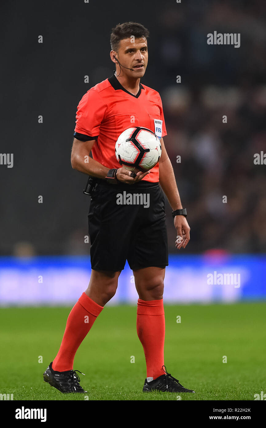
[[[148,47],[146,39],[134,39],[132,36],[129,39],[120,40],[119,49],[117,52],[118,61],[128,68],[122,68],[123,74],[130,77],[142,77],[145,74],[148,64]]]

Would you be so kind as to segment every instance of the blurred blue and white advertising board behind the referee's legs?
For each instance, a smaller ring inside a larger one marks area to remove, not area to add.
[[[0,306],[73,305],[88,286],[89,256],[0,258]],[[108,304],[137,302],[126,264]],[[266,255],[171,255],[165,303],[211,303],[266,299]]]

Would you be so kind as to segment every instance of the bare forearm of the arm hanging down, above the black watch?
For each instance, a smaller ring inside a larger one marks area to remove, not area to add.
[[[159,162],[159,183],[167,196],[172,210],[183,208],[175,181],[172,163],[167,157],[163,162]]]

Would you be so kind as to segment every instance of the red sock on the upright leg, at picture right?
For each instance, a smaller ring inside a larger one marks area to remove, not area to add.
[[[143,346],[147,377],[165,375],[164,336],[165,318],[164,303],[161,300],[137,301],[137,336]]]

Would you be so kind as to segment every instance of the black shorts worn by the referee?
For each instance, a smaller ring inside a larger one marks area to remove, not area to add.
[[[88,214],[91,268],[168,266],[164,194],[159,183],[97,183]]]

